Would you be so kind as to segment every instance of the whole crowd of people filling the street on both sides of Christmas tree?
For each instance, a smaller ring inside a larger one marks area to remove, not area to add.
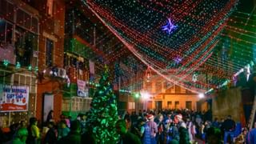
[[[169,144],[169,143],[250,143],[256,144],[256,122],[248,130],[241,123],[234,122],[229,115],[226,119],[214,118],[192,110],[140,110],[138,114],[120,114],[116,122],[120,135],[118,144]],[[30,118],[10,126],[10,132],[0,130],[0,143],[54,144],[54,143],[97,143],[93,134],[86,133],[86,114],[78,114],[71,121],[61,115],[55,122],[53,111],[46,119],[46,126],[39,129],[37,118]]]

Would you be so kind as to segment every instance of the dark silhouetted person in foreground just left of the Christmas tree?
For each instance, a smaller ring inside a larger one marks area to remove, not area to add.
[[[78,120],[70,124],[70,133],[58,140],[58,144],[80,144],[81,143],[81,125]]]

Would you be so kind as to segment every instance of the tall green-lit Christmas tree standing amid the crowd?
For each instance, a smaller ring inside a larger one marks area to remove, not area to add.
[[[98,143],[116,143],[118,140],[115,130],[118,120],[116,97],[109,78],[109,70],[105,66],[86,119],[86,129],[94,134]]]

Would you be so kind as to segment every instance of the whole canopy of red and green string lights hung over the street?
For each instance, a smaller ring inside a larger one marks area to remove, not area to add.
[[[84,4],[150,70],[186,89],[219,88],[235,80],[239,70],[254,65],[253,42],[242,39],[254,32],[235,25],[243,15],[236,10],[236,0],[88,0]],[[249,21],[251,15],[246,16]],[[241,22],[245,26],[248,21]],[[240,46],[249,58],[239,55]]]

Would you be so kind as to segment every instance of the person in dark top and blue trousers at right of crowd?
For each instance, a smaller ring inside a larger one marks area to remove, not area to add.
[[[231,115],[228,115],[226,120],[222,124],[224,130],[224,144],[226,144],[228,137],[230,140],[234,138],[235,122],[232,119]]]

